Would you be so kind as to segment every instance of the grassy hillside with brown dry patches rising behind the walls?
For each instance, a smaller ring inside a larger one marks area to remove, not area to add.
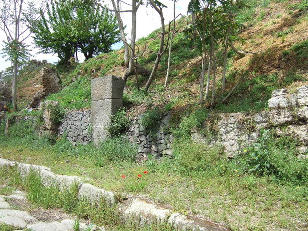
[[[215,109],[221,112],[263,110],[274,89],[282,87],[294,89],[307,83],[308,16],[303,10],[306,1],[253,0],[246,3],[249,7],[239,10],[237,15],[238,20],[246,26],[240,34],[245,42],[235,45],[238,49],[257,54],[240,57],[229,51],[227,90],[221,92],[223,48],[217,49],[218,92]],[[128,80],[128,92],[124,96],[124,103],[132,107],[132,111],[139,111],[141,104],[171,104],[174,110],[183,111],[183,108],[198,102],[201,59],[196,48],[190,47],[187,42],[184,33],[186,24],[183,18],[177,22],[172,47],[171,81],[167,90],[163,87],[168,62],[167,53],[161,59],[156,79],[147,94],[136,90],[136,80],[133,76]],[[139,62],[149,70],[159,47],[159,33],[160,30],[155,30],[137,42],[140,49],[147,43],[146,52]],[[105,74],[122,76],[124,72],[123,50],[99,55],[79,64],[71,72],[60,71],[63,90],[50,95],[48,99],[58,100],[62,107],[68,109],[90,107],[91,78]],[[228,102],[222,105],[222,99],[241,78],[237,90]],[[143,86],[146,79],[140,76],[139,81],[140,86]],[[21,89],[26,84],[30,85],[31,82],[24,82]],[[206,102],[205,107],[208,103]]]

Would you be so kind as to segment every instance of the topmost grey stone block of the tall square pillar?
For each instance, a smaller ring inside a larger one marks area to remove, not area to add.
[[[115,75],[105,75],[91,81],[92,101],[122,99],[125,81]]]

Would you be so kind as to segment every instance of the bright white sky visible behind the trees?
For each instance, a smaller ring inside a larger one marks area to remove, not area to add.
[[[127,0],[126,2],[130,2],[130,0]],[[161,2],[167,6],[167,8],[163,9],[164,12],[164,18],[165,18],[165,24],[168,24],[169,21],[173,19],[173,1],[171,0],[161,0]],[[109,0],[104,2],[108,5],[109,8],[111,7],[111,3]],[[178,14],[187,14],[187,6],[188,6],[189,0],[179,0],[176,3],[176,15]],[[129,6],[122,3],[122,10],[128,10]],[[128,34],[127,38],[130,38],[130,31],[132,28],[131,23],[131,13],[122,13],[122,20],[124,24],[126,24],[125,32]],[[159,14],[152,9],[151,6],[140,6],[137,11],[137,26],[136,26],[136,38],[140,39],[142,37],[147,36],[150,34],[153,30],[160,28],[160,16]],[[3,48],[3,42],[6,38],[3,31],[0,31],[0,38],[1,38],[1,49]],[[35,48],[33,45],[33,39],[29,37],[26,41],[27,45],[30,45],[30,49],[32,50],[30,53],[33,55],[31,59],[37,59],[37,60],[43,60],[47,59],[49,63],[55,63],[58,62],[58,56],[56,54],[42,54],[38,53],[39,49]],[[112,49],[119,49],[123,44],[117,43],[112,46]],[[84,56],[82,54],[78,55],[79,62],[83,62]],[[4,70],[5,68],[10,66],[10,62],[6,61],[6,59],[0,54],[0,71]]]

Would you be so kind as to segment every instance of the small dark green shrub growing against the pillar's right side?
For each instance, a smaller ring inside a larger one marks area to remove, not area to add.
[[[111,115],[110,119],[111,125],[108,127],[108,132],[111,136],[120,136],[129,127],[130,120],[124,107]]]

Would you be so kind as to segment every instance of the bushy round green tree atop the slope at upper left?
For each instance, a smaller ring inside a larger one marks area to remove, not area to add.
[[[43,53],[57,53],[64,63],[77,51],[86,59],[109,52],[118,41],[115,16],[91,0],[51,0],[47,16],[33,28],[35,45]]]

